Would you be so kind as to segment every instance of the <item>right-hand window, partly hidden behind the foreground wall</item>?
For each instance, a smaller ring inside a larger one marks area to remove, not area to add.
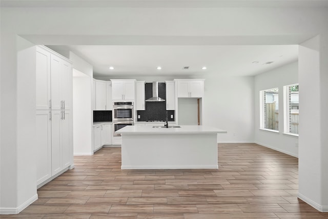
[[[284,86],[284,133],[298,135],[298,84]]]

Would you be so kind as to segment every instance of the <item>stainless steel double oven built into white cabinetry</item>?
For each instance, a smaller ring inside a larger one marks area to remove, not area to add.
[[[133,102],[114,102],[113,103],[113,135],[120,136],[115,133],[117,130],[133,125]]]

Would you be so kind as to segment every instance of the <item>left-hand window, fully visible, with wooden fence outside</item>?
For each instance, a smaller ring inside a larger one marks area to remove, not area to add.
[[[278,131],[278,88],[260,91],[260,128]]]

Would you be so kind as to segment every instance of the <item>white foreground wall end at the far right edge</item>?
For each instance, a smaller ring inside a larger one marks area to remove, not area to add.
[[[298,196],[321,211],[328,211],[328,55],[322,50],[327,45],[326,37],[316,36],[299,47],[299,159],[302,162]]]

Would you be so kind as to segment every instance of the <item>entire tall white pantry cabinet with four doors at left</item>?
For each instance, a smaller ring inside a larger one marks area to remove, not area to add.
[[[36,47],[36,174],[42,185],[73,164],[72,63]]]

